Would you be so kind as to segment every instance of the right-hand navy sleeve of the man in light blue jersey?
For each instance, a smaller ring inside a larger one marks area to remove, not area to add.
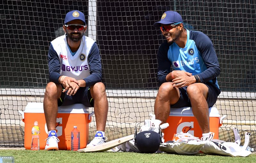
[[[200,81],[208,82],[212,80],[215,83],[217,76],[220,74],[220,65],[212,41],[207,35],[198,31],[191,31],[190,39],[195,41],[207,67],[204,72],[198,74]]]

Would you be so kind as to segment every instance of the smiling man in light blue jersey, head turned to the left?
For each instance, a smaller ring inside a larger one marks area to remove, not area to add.
[[[211,139],[209,107],[220,94],[220,66],[211,40],[202,32],[184,28],[180,14],[174,11],[164,12],[154,27],[160,27],[166,38],[157,53],[161,86],[155,101],[156,119],[165,123],[170,108],[191,106],[202,140]]]

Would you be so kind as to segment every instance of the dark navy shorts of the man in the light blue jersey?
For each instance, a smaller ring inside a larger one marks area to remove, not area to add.
[[[217,97],[220,94],[220,89],[218,89],[211,82],[206,82],[204,84],[209,89],[208,98],[207,98],[208,107],[212,107],[217,101]],[[171,108],[191,107],[190,99],[188,98],[187,87],[179,88],[179,90],[180,90],[180,99],[176,104],[171,105]]]

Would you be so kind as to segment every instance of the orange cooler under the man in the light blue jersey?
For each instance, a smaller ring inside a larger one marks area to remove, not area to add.
[[[220,114],[216,107],[209,108],[210,131],[214,132],[214,139],[219,139],[219,127],[221,126]],[[167,119],[169,127],[164,129],[164,141],[177,140],[174,135],[180,133],[189,133],[193,136],[202,137],[202,130],[192,113],[191,107],[171,108],[170,116]]]

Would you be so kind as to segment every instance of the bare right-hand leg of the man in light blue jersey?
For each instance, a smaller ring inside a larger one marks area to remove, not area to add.
[[[209,107],[207,104],[208,87],[203,83],[191,84],[187,88],[192,112],[203,133],[210,132]]]

